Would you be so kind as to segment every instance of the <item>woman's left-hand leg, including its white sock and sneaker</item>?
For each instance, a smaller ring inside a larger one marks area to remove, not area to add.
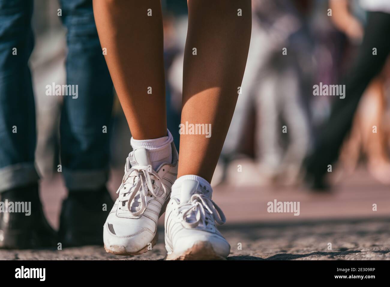
[[[133,147],[117,191],[116,212],[109,213],[103,227],[103,241],[106,252],[137,255],[157,241],[157,221],[177,174],[165,111],[161,4],[160,0],[94,0],[93,4]]]

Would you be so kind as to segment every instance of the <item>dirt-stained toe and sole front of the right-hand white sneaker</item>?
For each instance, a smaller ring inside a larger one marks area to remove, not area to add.
[[[176,254],[166,254],[164,260],[226,260],[214,251],[213,245],[207,241],[198,241],[186,251]]]

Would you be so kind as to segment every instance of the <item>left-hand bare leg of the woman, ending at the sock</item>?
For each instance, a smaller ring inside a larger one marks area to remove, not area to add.
[[[160,0],[94,0],[93,6],[100,43],[107,49],[108,69],[131,135],[136,140],[166,136]]]

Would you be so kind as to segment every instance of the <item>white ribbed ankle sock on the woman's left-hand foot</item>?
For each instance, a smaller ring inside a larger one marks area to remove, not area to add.
[[[162,138],[153,138],[151,140],[135,140],[131,137],[130,144],[133,150],[145,148],[149,151],[152,168],[156,170],[161,163],[172,163],[172,147],[173,137],[167,129],[167,136]]]

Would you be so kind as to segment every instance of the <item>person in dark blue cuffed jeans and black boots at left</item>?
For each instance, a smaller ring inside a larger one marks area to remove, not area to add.
[[[78,95],[64,97],[60,120],[61,168],[69,193],[57,239],[43,214],[34,165],[35,106],[28,67],[33,1],[0,1],[0,200],[31,202],[30,216],[0,213],[1,248],[57,246],[58,240],[62,246],[101,244],[101,225],[113,205],[105,186],[109,132],[102,132],[103,126],[110,131],[113,85],[92,1],[60,4],[68,31],[67,84],[78,85]]]

